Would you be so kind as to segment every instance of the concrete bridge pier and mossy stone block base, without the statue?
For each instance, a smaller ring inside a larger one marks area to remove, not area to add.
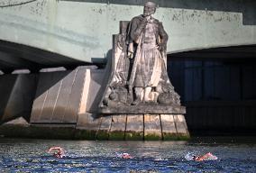
[[[139,141],[184,140],[189,137],[181,114],[97,114],[106,71],[78,67],[68,71],[0,77],[7,77],[9,83],[15,79],[13,85],[10,83],[13,87],[1,83],[1,87],[10,90],[3,95],[6,108],[2,121],[14,120],[2,124],[0,134],[9,137]],[[18,106],[22,103],[23,106]],[[11,105],[12,109],[9,108]],[[6,110],[9,110],[8,117]]]

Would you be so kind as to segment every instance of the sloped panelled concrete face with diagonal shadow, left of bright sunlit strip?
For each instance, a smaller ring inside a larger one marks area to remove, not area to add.
[[[77,123],[85,70],[39,74],[31,123]]]

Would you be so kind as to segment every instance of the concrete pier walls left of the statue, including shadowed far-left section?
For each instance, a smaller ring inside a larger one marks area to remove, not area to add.
[[[77,124],[78,116],[96,114],[105,91],[105,70],[54,70],[0,75],[0,123],[23,117],[30,123]]]

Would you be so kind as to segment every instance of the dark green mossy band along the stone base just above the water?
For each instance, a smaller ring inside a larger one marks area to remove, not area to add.
[[[0,136],[10,138],[41,138],[41,139],[64,139],[64,140],[127,140],[142,141],[143,132],[111,132],[101,130],[99,132],[91,130],[75,129],[69,126],[47,126],[47,125],[0,125]],[[188,141],[189,133],[163,133],[164,141]],[[162,137],[159,133],[148,133],[144,136],[145,141],[160,141]]]

